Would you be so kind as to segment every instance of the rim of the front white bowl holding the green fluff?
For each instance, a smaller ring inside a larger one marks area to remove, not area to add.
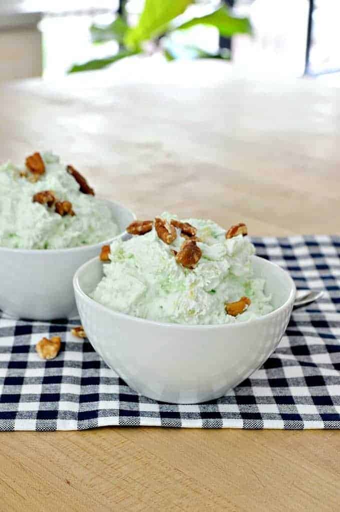
[[[79,274],[85,270],[87,266],[92,265],[95,261],[97,261],[99,258],[96,256],[95,258],[92,258],[88,260],[86,263],[81,265],[75,272],[73,276],[73,288],[75,292],[75,296],[77,298],[77,295],[82,298],[87,304],[90,305],[90,307],[97,308],[103,312],[109,313],[111,316],[118,317],[125,319],[127,321],[141,323],[145,325],[153,325],[153,326],[163,326],[168,327],[171,329],[188,329],[188,330],[212,330],[212,329],[242,329],[249,327],[250,324],[258,324],[261,322],[265,322],[266,319],[272,318],[280,313],[283,309],[286,309],[287,307],[292,307],[294,303],[294,298],[296,295],[296,285],[294,281],[292,280],[290,274],[277,265],[276,263],[273,263],[265,258],[261,258],[260,256],[253,255],[253,258],[256,258],[258,260],[264,261],[268,265],[273,265],[279,271],[283,272],[283,275],[285,276],[285,279],[290,284],[290,291],[287,300],[277,309],[274,311],[271,311],[270,313],[266,313],[265,315],[259,316],[257,318],[250,318],[246,320],[245,322],[239,322],[239,323],[233,323],[233,324],[176,324],[176,323],[169,323],[169,322],[157,322],[155,320],[149,320],[148,318],[140,318],[138,316],[132,316],[128,315],[126,313],[121,313],[119,311],[114,311],[113,309],[108,308],[107,306],[104,306],[103,304],[100,304],[99,302],[95,301],[93,298],[89,297],[80,287],[79,284]]]

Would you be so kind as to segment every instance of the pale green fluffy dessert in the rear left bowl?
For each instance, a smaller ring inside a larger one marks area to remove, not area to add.
[[[32,183],[20,176],[25,166],[0,166],[0,246],[20,249],[59,249],[91,245],[114,237],[118,227],[111,210],[92,195],[83,194],[66,166],[52,153],[41,154],[45,172]],[[74,216],[59,215],[34,194],[52,190],[58,201],[70,201]]]

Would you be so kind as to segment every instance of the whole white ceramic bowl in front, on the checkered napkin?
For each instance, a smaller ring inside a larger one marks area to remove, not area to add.
[[[275,311],[244,323],[190,326],[128,316],[93,301],[87,294],[103,275],[95,258],[73,280],[81,323],[106,364],[142,395],[175,403],[218,398],[276,349],[292,310],[296,289],[289,274],[256,256],[253,263]]]

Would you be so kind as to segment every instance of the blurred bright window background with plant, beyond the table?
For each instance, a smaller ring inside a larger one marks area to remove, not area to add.
[[[0,81],[214,58],[340,83],[339,14],[337,0],[2,0]]]

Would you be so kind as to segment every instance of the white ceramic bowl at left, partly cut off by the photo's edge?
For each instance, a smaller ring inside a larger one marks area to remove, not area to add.
[[[128,208],[104,201],[119,234],[135,219]],[[100,253],[109,240],[70,249],[9,249],[0,247],[0,309],[20,318],[52,320],[77,314],[72,278],[83,263]]]

